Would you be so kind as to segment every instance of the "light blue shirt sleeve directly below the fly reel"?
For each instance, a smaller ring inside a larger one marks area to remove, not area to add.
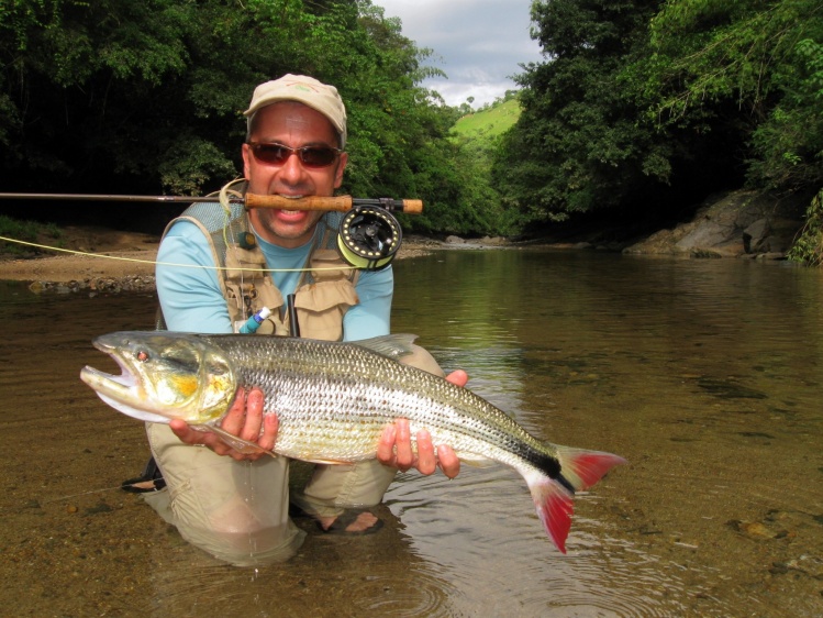
[[[391,297],[394,273],[382,271],[360,273],[355,286],[360,299],[343,318],[343,341],[357,341],[391,332]]]

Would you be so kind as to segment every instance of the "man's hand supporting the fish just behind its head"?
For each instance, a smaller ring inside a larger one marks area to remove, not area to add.
[[[169,427],[181,442],[191,445],[202,444],[219,455],[227,455],[237,461],[254,461],[265,455],[260,451],[238,451],[226,444],[216,433],[198,431],[181,420],[173,420]],[[247,442],[256,443],[265,451],[270,451],[277,440],[277,415],[263,413],[263,391],[259,388],[253,388],[248,396],[244,388],[240,388],[220,428]]]

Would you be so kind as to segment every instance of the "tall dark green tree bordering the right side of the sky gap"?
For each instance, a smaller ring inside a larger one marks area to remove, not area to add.
[[[548,58],[518,82],[523,113],[503,140],[494,184],[533,221],[614,207],[669,173],[668,146],[637,122],[621,70],[645,52],[656,0],[552,0],[532,5]]]

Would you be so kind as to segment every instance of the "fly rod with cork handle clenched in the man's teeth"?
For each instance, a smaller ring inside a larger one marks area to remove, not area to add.
[[[70,200],[70,201],[129,201],[155,203],[192,203],[219,201],[216,197],[186,196],[120,196],[96,194],[0,194],[0,200]],[[347,212],[357,207],[379,207],[389,212],[419,214],[423,212],[423,201],[419,199],[353,198],[352,196],[286,198],[283,196],[260,196],[246,194],[244,197],[230,197],[232,203],[249,208],[275,208],[278,210],[335,210]]]

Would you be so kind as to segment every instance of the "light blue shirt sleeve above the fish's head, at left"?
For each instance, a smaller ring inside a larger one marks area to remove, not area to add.
[[[157,252],[157,296],[171,331],[231,333],[211,246],[188,221],[176,222]]]

